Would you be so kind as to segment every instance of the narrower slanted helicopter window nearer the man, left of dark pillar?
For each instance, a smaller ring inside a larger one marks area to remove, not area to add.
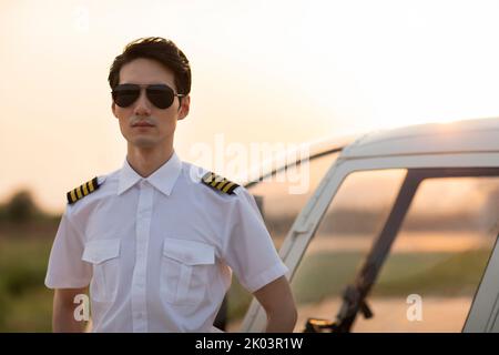
[[[298,307],[295,332],[303,331],[308,317],[334,318],[344,287],[381,230],[406,172],[354,172],[342,183],[292,282]]]

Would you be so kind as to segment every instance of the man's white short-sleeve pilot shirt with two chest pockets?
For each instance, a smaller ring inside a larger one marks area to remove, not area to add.
[[[125,160],[69,204],[45,285],[90,284],[94,332],[211,332],[232,271],[254,292],[286,274],[256,203],[172,158],[147,178]]]

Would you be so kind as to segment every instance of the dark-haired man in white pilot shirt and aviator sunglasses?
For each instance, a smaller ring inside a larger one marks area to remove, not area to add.
[[[45,285],[54,332],[83,331],[77,295],[90,286],[94,332],[211,332],[232,272],[291,332],[296,308],[279,260],[243,186],[182,162],[176,122],[189,113],[191,69],[169,40],[130,43],[109,74],[128,142],[122,169],[68,193]]]

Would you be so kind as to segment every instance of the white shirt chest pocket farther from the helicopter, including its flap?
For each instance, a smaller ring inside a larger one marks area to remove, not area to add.
[[[120,240],[90,241],[82,260],[92,264],[90,295],[95,302],[113,302],[118,292]]]

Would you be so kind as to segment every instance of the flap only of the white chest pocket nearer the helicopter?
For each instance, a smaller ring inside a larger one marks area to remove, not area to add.
[[[215,248],[206,243],[166,237],[163,255],[186,265],[215,263]]]

